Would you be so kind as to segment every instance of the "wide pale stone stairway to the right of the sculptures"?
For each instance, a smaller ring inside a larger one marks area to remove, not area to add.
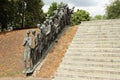
[[[120,80],[120,20],[82,22],[53,80]]]

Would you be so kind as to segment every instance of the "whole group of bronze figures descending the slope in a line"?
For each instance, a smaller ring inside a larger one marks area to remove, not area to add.
[[[68,5],[54,11],[53,16],[47,15],[43,24],[38,24],[39,33],[35,30],[27,31],[24,39],[24,73],[31,70],[38,60],[43,56],[44,52],[49,48],[50,44],[57,38],[58,34],[66,25],[70,25],[71,15],[74,7],[69,9]],[[32,33],[32,36],[30,36]]]

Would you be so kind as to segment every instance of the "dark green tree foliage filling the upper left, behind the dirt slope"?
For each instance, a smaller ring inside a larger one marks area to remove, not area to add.
[[[27,4],[26,7],[24,3]],[[23,20],[25,23],[24,28],[44,21],[43,5],[42,0],[0,0],[1,30],[3,31],[9,26],[23,28]]]

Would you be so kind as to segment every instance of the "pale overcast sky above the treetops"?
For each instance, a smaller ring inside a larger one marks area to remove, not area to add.
[[[77,9],[84,9],[90,13],[91,16],[103,15],[105,14],[105,6],[109,4],[109,0],[43,0],[44,12],[48,11],[48,8],[52,2],[64,2],[69,5],[69,7],[75,6],[75,11]]]

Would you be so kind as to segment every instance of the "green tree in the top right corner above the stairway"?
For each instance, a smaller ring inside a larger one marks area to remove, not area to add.
[[[106,15],[108,19],[120,18],[120,0],[114,0],[106,7]]]

